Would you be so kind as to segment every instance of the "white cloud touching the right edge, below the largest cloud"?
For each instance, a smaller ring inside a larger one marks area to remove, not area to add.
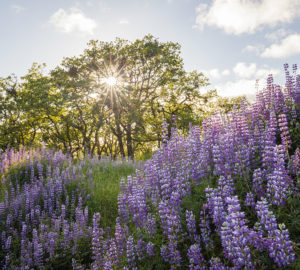
[[[300,54],[300,34],[292,34],[266,48],[261,56],[265,58],[285,58],[294,54]]]

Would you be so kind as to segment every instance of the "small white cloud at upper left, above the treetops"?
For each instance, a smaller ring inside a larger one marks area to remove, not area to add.
[[[97,23],[78,8],[71,8],[69,12],[60,8],[50,17],[49,23],[64,33],[81,32],[92,35],[97,27]]]

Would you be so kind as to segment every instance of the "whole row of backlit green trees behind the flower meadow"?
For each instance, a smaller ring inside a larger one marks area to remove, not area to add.
[[[186,133],[216,108],[241,98],[220,98],[199,72],[186,72],[180,45],[151,35],[129,42],[92,40],[83,54],[43,72],[33,64],[21,79],[0,78],[0,148],[37,146],[72,155],[145,157],[174,125]],[[174,121],[174,116],[177,119]]]

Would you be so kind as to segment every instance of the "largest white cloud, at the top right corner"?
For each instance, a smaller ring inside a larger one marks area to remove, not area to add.
[[[214,0],[196,8],[196,27],[205,25],[228,34],[254,33],[263,26],[290,23],[300,15],[299,0]]]

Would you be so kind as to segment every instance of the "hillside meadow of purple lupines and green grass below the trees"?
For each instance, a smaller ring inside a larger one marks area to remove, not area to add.
[[[299,269],[300,77],[143,162],[0,157],[2,269]]]

